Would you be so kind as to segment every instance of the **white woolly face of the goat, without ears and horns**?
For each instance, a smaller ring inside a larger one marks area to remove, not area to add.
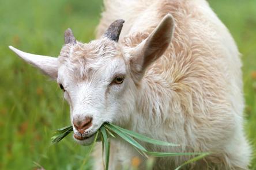
[[[104,122],[127,121],[135,85],[125,55],[121,45],[108,38],[62,48],[57,82],[70,105],[79,143],[90,144]]]

